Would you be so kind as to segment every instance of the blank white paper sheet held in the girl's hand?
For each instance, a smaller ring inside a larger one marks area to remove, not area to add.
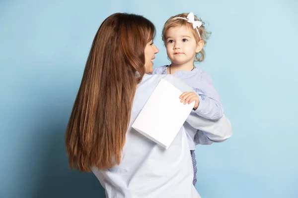
[[[160,146],[168,148],[195,104],[195,101],[190,104],[181,103],[181,94],[180,90],[162,79],[132,127]]]

